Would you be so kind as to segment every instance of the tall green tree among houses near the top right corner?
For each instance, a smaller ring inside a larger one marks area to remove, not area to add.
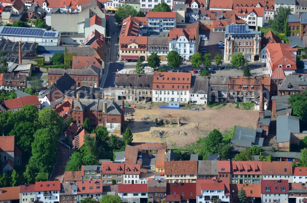
[[[288,14],[291,14],[290,6],[284,7],[280,6],[276,12],[275,18],[272,21],[272,31],[274,33],[282,33],[285,31],[285,24],[288,19]]]

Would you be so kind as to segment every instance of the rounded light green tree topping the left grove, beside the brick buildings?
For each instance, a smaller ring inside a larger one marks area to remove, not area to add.
[[[38,122],[42,128],[48,129],[57,138],[59,138],[64,130],[63,117],[51,108],[44,107],[39,111]]]

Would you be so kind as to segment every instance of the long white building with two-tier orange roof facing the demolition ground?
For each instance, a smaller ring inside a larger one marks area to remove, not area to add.
[[[192,73],[154,72],[153,102],[189,101]]]

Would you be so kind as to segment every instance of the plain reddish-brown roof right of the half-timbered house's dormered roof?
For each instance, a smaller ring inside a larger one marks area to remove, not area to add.
[[[292,162],[262,162],[263,175],[292,175]]]

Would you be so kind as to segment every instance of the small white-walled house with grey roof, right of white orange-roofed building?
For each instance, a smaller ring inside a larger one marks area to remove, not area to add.
[[[208,77],[194,76],[195,82],[190,89],[190,102],[195,104],[208,103]]]

